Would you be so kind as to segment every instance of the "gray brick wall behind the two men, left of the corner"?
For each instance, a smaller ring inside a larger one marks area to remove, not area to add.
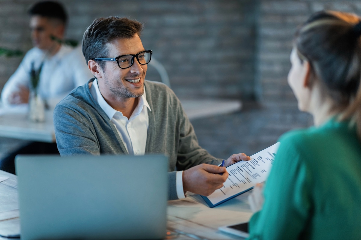
[[[81,40],[94,18],[117,15],[143,22],[143,45],[164,64],[179,96],[250,98],[255,79],[253,0],[60,0],[69,13],[66,37]],[[0,1],[0,46],[31,47],[26,10],[34,1]],[[0,57],[0,89],[21,57]],[[149,68],[147,79],[159,80]]]

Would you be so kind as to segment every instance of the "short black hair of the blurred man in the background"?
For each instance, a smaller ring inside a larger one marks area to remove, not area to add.
[[[31,16],[39,15],[42,17],[59,19],[66,24],[68,16],[64,7],[55,1],[41,1],[31,6],[28,13]]]

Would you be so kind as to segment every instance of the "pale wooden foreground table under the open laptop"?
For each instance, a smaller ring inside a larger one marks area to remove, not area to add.
[[[19,225],[17,176],[0,170],[1,177],[9,179],[0,182],[0,232],[9,226],[14,228],[14,224]],[[249,220],[252,213],[247,204],[248,194],[239,195],[214,208],[209,208],[203,199],[195,194],[190,194],[183,200],[168,201],[167,230],[170,235],[165,239],[242,239],[223,234],[218,231],[218,227]]]

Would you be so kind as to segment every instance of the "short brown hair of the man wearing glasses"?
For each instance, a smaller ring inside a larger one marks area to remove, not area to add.
[[[128,18],[107,17],[97,18],[85,30],[82,41],[82,50],[88,62],[94,58],[108,58],[106,44],[114,39],[131,38],[140,36],[143,24]],[[115,57],[115,56],[112,56]],[[105,62],[99,61],[104,69]]]

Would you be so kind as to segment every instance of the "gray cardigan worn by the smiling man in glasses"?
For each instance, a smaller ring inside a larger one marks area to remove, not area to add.
[[[62,156],[128,154],[116,128],[90,93],[89,84],[70,92],[54,110],[56,143]],[[201,163],[219,164],[198,144],[192,124],[174,92],[160,82],[145,81],[149,127],[145,154],[169,157],[168,199],[178,199],[175,170]]]

